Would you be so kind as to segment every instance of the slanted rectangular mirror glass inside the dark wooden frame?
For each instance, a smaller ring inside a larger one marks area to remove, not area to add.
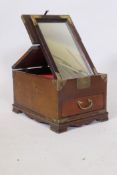
[[[38,25],[62,79],[93,74],[66,22],[39,22]]]

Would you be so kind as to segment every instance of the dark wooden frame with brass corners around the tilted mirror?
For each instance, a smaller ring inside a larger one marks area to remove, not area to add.
[[[77,48],[79,49],[80,54],[83,55],[82,58],[84,59],[84,62],[87,61],[87,63],[89,64],[87,65],[87,67],[89,67],[89,70],[91,69],[94,75],[97,74],[96,68],[94,67],[69,15],[62,15],[62,16],[60,15],[22,15],[22,20],[29,33],[32,43],[40,44],[42,52],[50,66],[50,69],[54,75],[54,78],[56,79],[61,78],[60,73],[54,62],[52,54],[47,46],[44,36],[39,28],[39,25],[38,25],[39,22],[58,22],[58,23],[66,22],[71,29],[71,32],[73,34],[74,40],[76,42],[76,45],[77,45]]]

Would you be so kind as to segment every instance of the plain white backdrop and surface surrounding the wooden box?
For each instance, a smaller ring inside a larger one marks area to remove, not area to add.
[[[69,14],[99,72],[110,120],[56,134],[12,112],[11,66],[31,46],[21,14]],[[117,1],[0,0],[0,175],[117,174]]]

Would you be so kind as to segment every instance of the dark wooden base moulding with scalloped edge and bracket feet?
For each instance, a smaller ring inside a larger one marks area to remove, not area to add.
[[[98,112],[90,112],[88,117],[86,116],[86,114],[81,114],[53,121],[50,121],[47,118],[44,119],[41,114],[35,113],[30,109],[26,109],[24,107],[19,107],[16,105],[13,105],[13,112],[17,114],[24,113],[29,118],[34,119],[40,123],[49,124],[50,129],[56,133],[62,133],[67,131],[68,127],[79,127],[82,125],[88,125],[93,121],[103,122],[108,120],[108,112],[104,110]]]

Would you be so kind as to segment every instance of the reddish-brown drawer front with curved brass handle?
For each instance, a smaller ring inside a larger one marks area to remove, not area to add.
[[[62,116],[70,116],[75,114],[86,113],[89,111],[96,111],[104,108],[103,94],[81,97],[62,105]]]

